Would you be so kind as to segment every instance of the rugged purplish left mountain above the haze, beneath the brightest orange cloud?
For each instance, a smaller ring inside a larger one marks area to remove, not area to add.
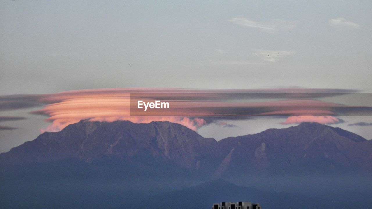
[[[203,138],[183,125],[167,121],[80,121],[1,153],[0,161],[24,164],[73,158],[87,163],[120,161],[138,167],[156,162],[196,170],[206,159],[205,150],[215,143],[213,138]]]

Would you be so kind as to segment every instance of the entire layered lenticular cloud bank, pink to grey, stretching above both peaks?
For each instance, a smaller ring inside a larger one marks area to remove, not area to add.
[[[251,117],[282,116],[282,124],[318,122],[342,123],[338,115],[371,115],[371,107],[348,106],[322,98],[352,94],[346,89],[231,89],[195,90],[169,88],[88,89],[42,95],[10,95],[0,97],[0,108],[10,110],[41,106],[33,114],[47,116],[51,122],[42,131],[60,131],[83,119],[92,121],[129,120],[134,123],[171,121],[197,130],[206,124],[232,127],[224,120],[247,120]],[[166,98],[173,106],[161,114],[133,114],[130,95],[145,95],[145,99]],[[12,105],[9,105],[12,103]],[[25,105],[26,104],[26,105]],[[3,117],[1,121],[22,120]],[[10,130],[12,127],[2,127]]]

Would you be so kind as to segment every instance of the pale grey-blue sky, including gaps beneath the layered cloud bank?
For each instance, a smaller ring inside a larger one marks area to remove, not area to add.
[[[1,0],[0,95],[107,88],[372,93],[371,10],[371,1]],[[30,114],[43,105],[0,110],[0,127],[17,128],[0,131],[0,152],[50,127],[50,115]],[[372,138],[370,117],[339,118],[344,123],[333,126]],[[284,121],[225,120],[197,131],[221,139],[293,125]]]

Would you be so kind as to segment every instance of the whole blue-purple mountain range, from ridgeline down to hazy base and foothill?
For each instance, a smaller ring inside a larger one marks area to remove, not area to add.
[[[371,174],[371,140],[318,123],[216,141],[82,120],[0,154],[0,208],[370,208]]]

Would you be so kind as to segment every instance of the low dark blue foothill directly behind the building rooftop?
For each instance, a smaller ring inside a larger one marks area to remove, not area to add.
[[[368,204],[349,201],[335,201],[324,197],[308,197],[284,192],[268,192],[255,188],[238,186],[225,180],[213,180],[185,189],[155,195],[148,200],[152,208],[161,209],[164,205],[177,205],[179,209],[207,209],[221,201],[258,202],[263,208],[314,209],[314,208],[367,208]],[[185,202],[187,204],[179,204]],[[146,206],[134,206],[143,208]]]

